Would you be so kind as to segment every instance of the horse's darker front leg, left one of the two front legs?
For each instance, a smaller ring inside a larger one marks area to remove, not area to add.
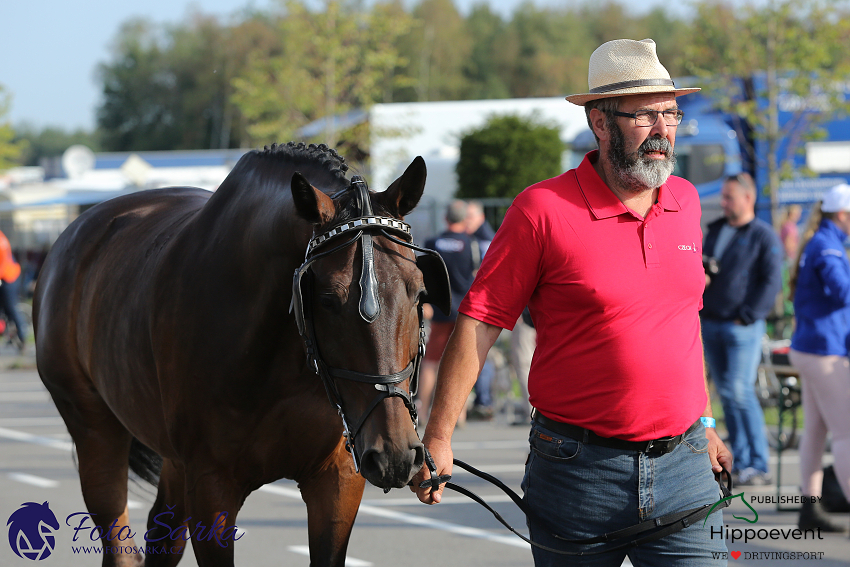
[[[198,567],[233,567],[237,533],[236,515],[247,492],[232,473],[189,470],[186,474],[186,503],[189,520],[186,529]]]

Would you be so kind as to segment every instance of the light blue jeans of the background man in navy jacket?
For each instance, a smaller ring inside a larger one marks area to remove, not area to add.
[[[755,391],[764,331],[764,320],[752,325],[702,320],[705,359],[723,404],[729,449],[737,471],[747,467],[768,471],[764,413]]]

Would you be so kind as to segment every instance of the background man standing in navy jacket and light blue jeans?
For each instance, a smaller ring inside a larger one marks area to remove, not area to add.
[[[723,217],[708,225],[704,255],[718,270],[709,274],[702,321],[705,359],[723,404],[733,475],[739,485],[770,482],[764,413],[755,392],[765,318],[782,289],[784,252],[773,227],[756,218],[753,178],[726,179]]]

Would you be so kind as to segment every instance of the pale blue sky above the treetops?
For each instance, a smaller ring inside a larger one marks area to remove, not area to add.
[[[480,1],[455,0],[455,4],[468,13]],[[556,6],[570,1],[535,3]],[[507,17],[521,0],[489,3]],[[658,3],[660,0],[650,0],[643,5]],[[109,60],[110,43],[120,25],[131,17],[179,23],[193,7],[227,18],[249,6],[267,9],[274,5],[275,0],[2,0],[0,84],[12,95],[7,118],[13,125],[26,122],[36,128],[93,129],[100,96],[95,69]]]

